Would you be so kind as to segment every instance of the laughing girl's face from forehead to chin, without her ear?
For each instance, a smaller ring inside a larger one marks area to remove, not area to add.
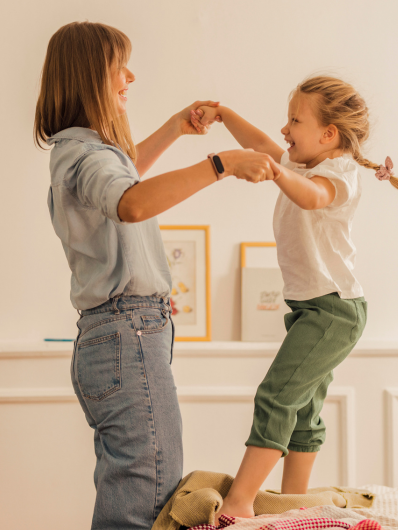
[[[315,116],[311,98],[307,94],[295,94],[289,103],[288,122],[281,133],[288,148],[289,159],[298,164],[307,164],[325,150],[322,139],[325,127],[321,126]]]

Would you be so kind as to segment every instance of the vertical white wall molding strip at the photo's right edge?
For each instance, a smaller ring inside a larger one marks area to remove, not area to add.
[[[391,488],[398,486],[398,387],[386,388],[386,478]]]

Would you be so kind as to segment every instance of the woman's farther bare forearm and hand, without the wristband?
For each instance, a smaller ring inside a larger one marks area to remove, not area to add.
[[[201,105],[211,108],[212,106],[218,106],[218,103],[214,101],[196,101],[172,116],[160,129],[137,145],[138,156],[135,165],[140,175],[144,175],[160,155],[180,136],[184,134],[206,134],[208,132],[208,125],[200,124],[195,128],[191,123],[191,110],[197,109]]]

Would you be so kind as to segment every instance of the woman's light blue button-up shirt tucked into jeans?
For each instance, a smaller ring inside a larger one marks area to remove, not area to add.
[[[72,271],[71,301],[91,309],[118,294],[168,297],[171,276],[157,219],[122,222],[123,193],[140,181],[131,159],[95,131],[65,129],[47,140],[48,207]]]

